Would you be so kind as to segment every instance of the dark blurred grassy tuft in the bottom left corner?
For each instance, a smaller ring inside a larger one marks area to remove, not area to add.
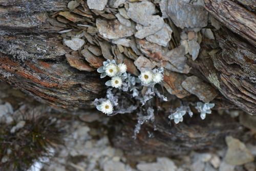
[[[49,149],[60,142],[56,119],[41,115],[24,118],[0,127],[0,170],[27,170],[40,158],[49,157]]]

